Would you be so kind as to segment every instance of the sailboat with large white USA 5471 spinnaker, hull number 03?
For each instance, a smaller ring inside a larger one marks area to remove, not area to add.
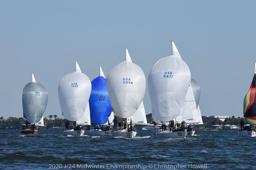
[[[174,120],[182,113],[191,75],[172,41],[172,55],[156,62],[148,75],[148,91],[152,114],[161,122]],[[164,130],[159,138],[185,138],[186,131]]]

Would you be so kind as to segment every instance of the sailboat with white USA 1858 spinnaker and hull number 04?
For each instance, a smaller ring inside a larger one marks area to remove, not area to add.
[[[65,75],[58,87],[58,96],[62,115],[69,121],[80,121],[88,106],[91,94],[91,81],[82,73],[76,62],[75,72]],[[78,129],[68,129],[63,132],[64,135],[83,136],[83,127]]]

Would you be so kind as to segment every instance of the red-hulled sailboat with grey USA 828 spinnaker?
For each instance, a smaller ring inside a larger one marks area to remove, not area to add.
[[[32,81],[25,85],[22,92],[23,117],[31,124],[37,125],[36,123],[39,123],[43,118],[47,102],[48,92],[43,85],[36,83],[32,72]],[[21,133],[37,134],[38,131],[33,125],[31,128],[23,126]]]

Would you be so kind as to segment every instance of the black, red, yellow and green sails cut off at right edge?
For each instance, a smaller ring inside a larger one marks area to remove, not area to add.
[[[254,64],[254,75],[251,86],[244,97],[244,118],[256,125],[256,63]]]

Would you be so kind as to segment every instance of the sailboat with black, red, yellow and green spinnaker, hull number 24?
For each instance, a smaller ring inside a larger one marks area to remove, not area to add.
[[[251,86],[244,97],[244,118],[252,125],[256,125],[256,63]],[[240,137],[256,137],[256,129],[239,131]]]

